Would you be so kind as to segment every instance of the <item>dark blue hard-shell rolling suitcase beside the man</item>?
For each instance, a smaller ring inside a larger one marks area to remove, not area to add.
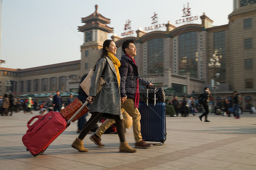
[[[156,103],[156,98],[154,97],[154,104],[148,104],[147,100],[146,103],[139,103],[138,110],[141,115],[142,139],[145,141],[160,142],[159,144],[163,145],[167,135],[165,103]]]

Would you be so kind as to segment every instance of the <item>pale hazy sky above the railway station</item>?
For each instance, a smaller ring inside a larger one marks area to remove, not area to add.
[[[126,20],[131,29],[151,26],[154,12],[159,24],[182,18],[182,9],[189,2],[195,24],[201,24],[200,15],[207,15],[213,25],[228,24],[233,11],[233,0],[3,0],[1,67],[26,69],[42,65],[80,60],[84,25],[82,17],[98,12],[111,19],[108,25],[121,36]],[[109,39],[113,33],[109,34]]]

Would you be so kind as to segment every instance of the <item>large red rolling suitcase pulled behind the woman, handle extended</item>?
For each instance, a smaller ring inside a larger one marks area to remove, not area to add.
[[[27,124],[28,130],[22,137],[22,142],[27,150],[33,156],[44,152],[51,142],[67,129],[70,122],[80,113],[87,103],[86,101],[69,120],[66,120],[60,112],[54,111],[50,111],[46,115],[32,117]],[[38,120],[30,125],[35,118],[38,118]]]

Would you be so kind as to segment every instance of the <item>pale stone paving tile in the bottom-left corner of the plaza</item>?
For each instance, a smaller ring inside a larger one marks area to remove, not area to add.
[[[5,160],[0,162],[1,170],[27,170],[30,168],[39,168],[38,165],[18,161],[18,160]]]

